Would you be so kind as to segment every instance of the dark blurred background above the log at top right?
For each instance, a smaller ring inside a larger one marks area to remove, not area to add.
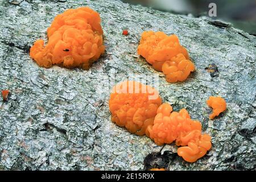
[[[133,5],[152,7],[175,14],[208,16],[209,3],[216,3],[217,17],[256,35],[256,0],[122,0]]]

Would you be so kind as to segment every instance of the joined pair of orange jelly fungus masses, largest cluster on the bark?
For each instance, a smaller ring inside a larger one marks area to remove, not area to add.
[[[175,112],[171,105],[161,104],[150,86],[125,81],[113,88],[109,109],[118,126],[125,126],[130,133],[146,134],[158,145],[175,141],[181,146],[177,154],[187,162],[196,162],[212,147],[210,136],[201,133],[201,123],[192,120],[187,110]]]

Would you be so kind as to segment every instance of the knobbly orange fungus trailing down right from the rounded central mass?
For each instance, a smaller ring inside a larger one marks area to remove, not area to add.
[[[147,127],[146,135],[158,145],[176,140],[177,154],[187,162],[196,162],[212,147],[210,136],[201,134],[201,123],[190,118],[188,111],[172,112],[172,106],[162,104],[156,111],[154,123]]]

